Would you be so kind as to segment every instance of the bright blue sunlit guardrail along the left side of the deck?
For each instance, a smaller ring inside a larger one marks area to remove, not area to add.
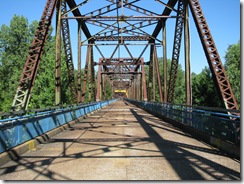
[[[79,104],[64,108],[54,107],[46,111],[41,109],[35,110],[35,113],[32,114],[29,111],[29,114],[22,115],[23,112],[21,112],[21,115],[14,117],[9,117],[9,114],[13,115],[13,113],[5,113],[7,118],[0,120],[0,153],[100,109],[116,100]]]

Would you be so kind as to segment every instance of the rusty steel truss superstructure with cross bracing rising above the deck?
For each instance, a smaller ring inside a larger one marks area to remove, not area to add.
[[[148,3],[150,6],[147,6]],[[113,92],[118,90],[116,86],[124,87],[124,90],[128,90],[128,98],[155,101],[156,94],[159,94],[161,102],[174,103],[179,55],[184,53],[186,55],[184,62],[188,66],[185,68],[187,73],[186,103],[191,105],[190,37],[186,31],[189,30],[188,16],[192,16],[223,104],[227,109],[238,109],[231,85],[198,0],[47,0],[40,23],[48,22],[48,24],[45,27],[39,26],[37,28],[33,47],[42,48],[44,46],[45,37],[38,35],[48,32],[55,10],[57,14],[56,105],[61,103],[61,85],[58,80],[61,77],[59,58],[61,54],[60,40],[62,39],[64,48],[66,48],[66,63],[74,103],[84,102],[86,98],[87,101],[106,99],[106,96],[99,95],[104,94],[104,86],[106,85],[110,85]],[[71,21],[78,23],[77,82],[74,81],[72,63],[74,58],[72,57],[69,39],[71,36],[69,24],[67,24]],[[173,30],[168,31],[166,26],[168,21],[175,22]],[[43,28],[44,31],[42,31]],[[63,38],[61,31],[63,31]],[[166,32],[174,35],[174,43],[167,43]],[[35,45],[36,43],[38,44]],[[172,56],[166,55],[168,44],[173,45]],[[181,47],[184,47],[184,52],[181,51]],[[86,52],[81,52],[82,48],[85,48]],[[25,65],[28,67],[23,70],[14,98],[13,107],[16,110],[28,107],[35,75],[41,61],[42,49],[34,49],[35,53],[32,51],[29,53],[29,59]],[[160,55],[163,53],[163,71],[159,70],[159,53]],[[34,59],[30,59],[34,56]],[[165,72],[167,71],[168,57],[172,58],[170,76],[167,76]],[[127,61],[126,58],[129,58],[130,61]],[[30,61],[35,67],[29,67]],[[81,65],[85,65],[83,76],[81,76]],[[95,67],[98,67],[97,72],[100,72],[103,77],[95,75]],[[164,81],[161,80],[160,73],[163,73]],[[170,79],[169,84],[166,82],[167,78]],[[119,82],[121,85],[118,85]],[[122,87],[120,90],[123,90]]]

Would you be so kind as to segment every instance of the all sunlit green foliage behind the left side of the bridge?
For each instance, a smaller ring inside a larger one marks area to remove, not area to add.
[[[9,111],[25,64],[29,47],[34,38],[37,21],[30,25],[23,16],[13,16],[10,26],[0,27],[0,111]],[[55,37],[46,41],[34,88],[28,108],[54,106],[55,102]],[[62,103],[70,104],[67,67],[64,53],[61,58],[61,95]]]

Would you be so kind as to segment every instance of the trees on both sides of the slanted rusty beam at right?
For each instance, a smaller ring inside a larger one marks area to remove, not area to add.
[[[230,45],[225,55],[225,68],[239,105],[241,96],[240,58],[240,42]],[[192,74],[192,95],[193,105],[225,108],[207,67],[198,75]]]

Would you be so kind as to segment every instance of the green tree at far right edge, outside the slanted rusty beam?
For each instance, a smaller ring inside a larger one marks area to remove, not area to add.
[[[237,44],[229,45],[225,54],[225,68],[229,78],[236,101],[241,104],[241,49],[240,41]]]

